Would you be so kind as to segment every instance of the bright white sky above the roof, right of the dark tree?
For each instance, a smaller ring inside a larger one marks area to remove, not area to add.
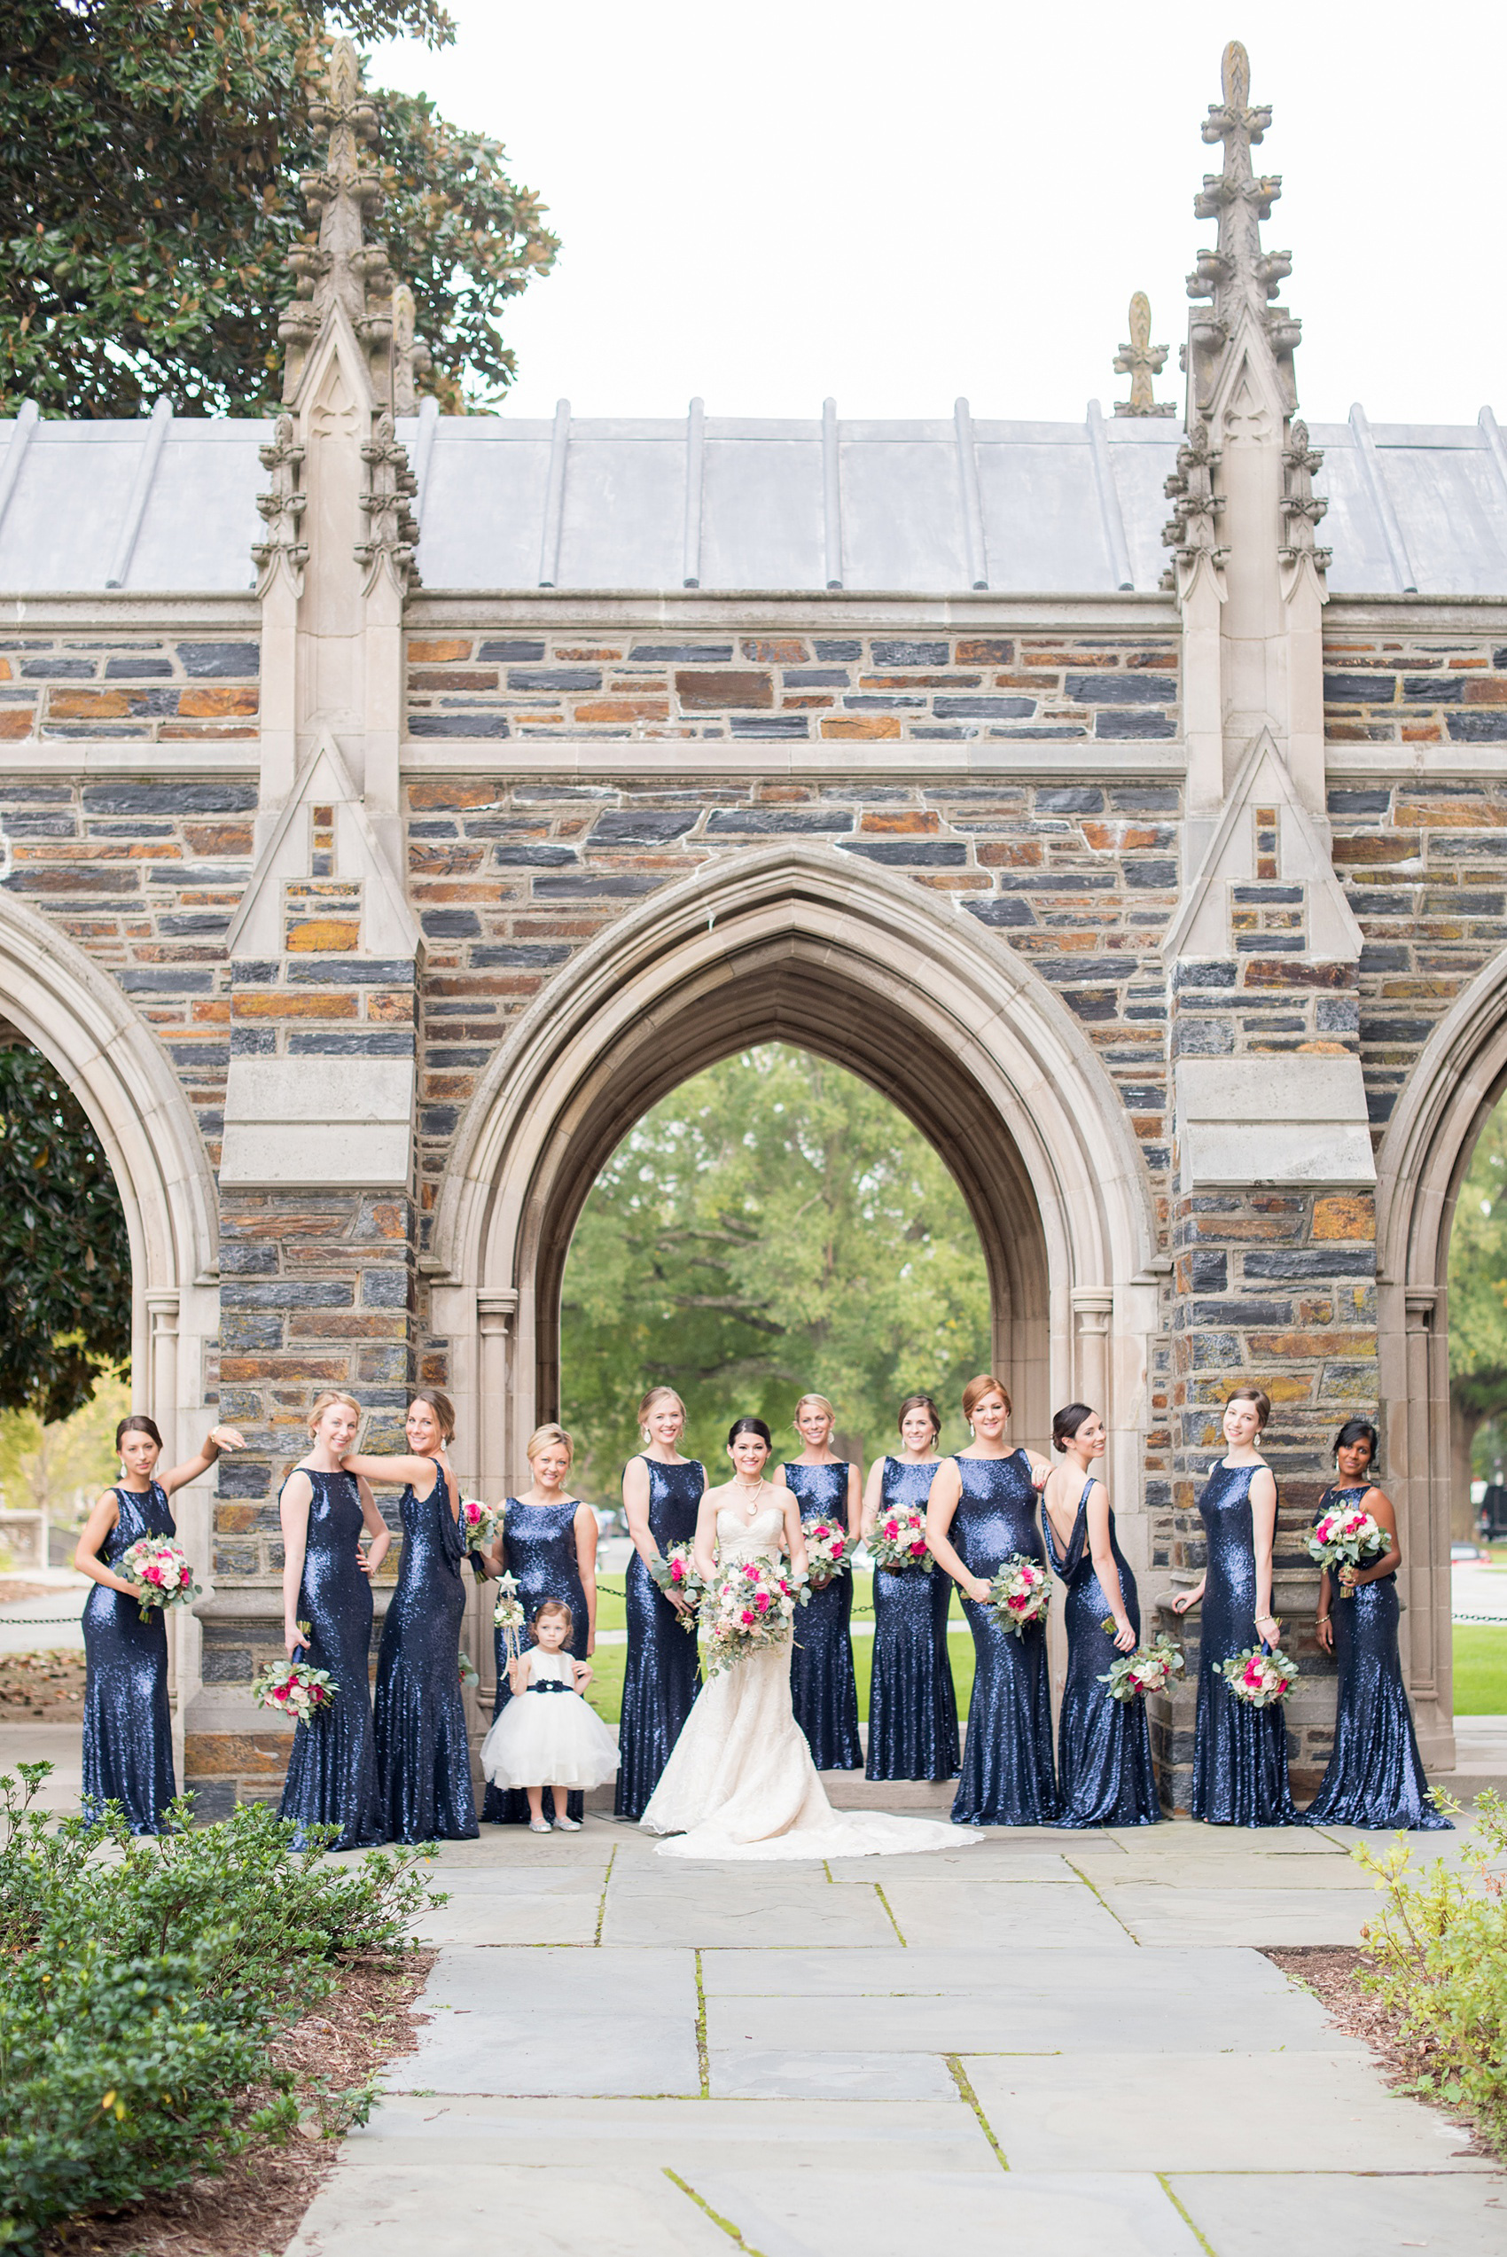
[[[1182,397],[1191,199],[1225,38],[1284,176],[1311,420],[1507,422],[1500,0],[449,0],[374,86],[508,144],[562,255],[505,323],[508,413],[1076,418],[1133,289]]]

